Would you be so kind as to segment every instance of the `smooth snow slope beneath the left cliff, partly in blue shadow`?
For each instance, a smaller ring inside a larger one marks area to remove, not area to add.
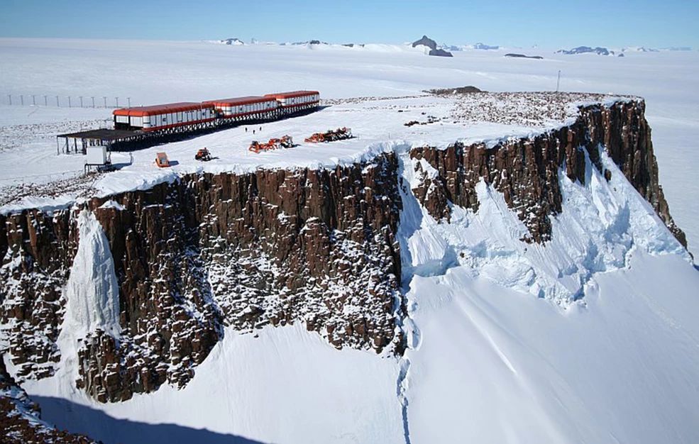
[[[26,387],[46,421],[109,444],[178,443],[185,428],[215,433],[193,435],[211,443],[236,442],[235,436],[265,443],[404,442],[396,360],[338,351],[300,324],[255,335],[226,330],[182,390],[165,386],[97,404],[75,389],[71,376],[62,367],[56,377]],[[156,426],[165,424],[180,427]]]

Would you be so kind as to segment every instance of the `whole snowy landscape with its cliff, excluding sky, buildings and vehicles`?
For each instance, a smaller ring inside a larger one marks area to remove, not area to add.
[[[699,442],[699,54],[510,50],[0,39],[40,103],[324,99],[87,176],[55,135],[111,109],[4,99],[0,348],[43,422],[1,396],[104,443]]]

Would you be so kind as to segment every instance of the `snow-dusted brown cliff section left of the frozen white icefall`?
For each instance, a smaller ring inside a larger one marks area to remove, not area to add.
[[[18,377],[48,377],[60,360],[62,287],[77,250],[67,211],[0,216],[0,322]]]

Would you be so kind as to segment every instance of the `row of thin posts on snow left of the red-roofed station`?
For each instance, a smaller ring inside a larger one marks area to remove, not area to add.
[[[46,106],[53,108],[105,108],[131,106],[131,97],[120,96],[61,96],[55,94],[3,94],[0,105]]]

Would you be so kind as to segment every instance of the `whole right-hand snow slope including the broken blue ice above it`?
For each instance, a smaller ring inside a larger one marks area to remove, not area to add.
[[[561,172],[542,246],[519,242],[483,182],[477,213],[437,223],[409,193],[414,162],[400,225],[412,442],[699,439],[699,273],[620,172],[607,184],[588,162],[584,186]]]

